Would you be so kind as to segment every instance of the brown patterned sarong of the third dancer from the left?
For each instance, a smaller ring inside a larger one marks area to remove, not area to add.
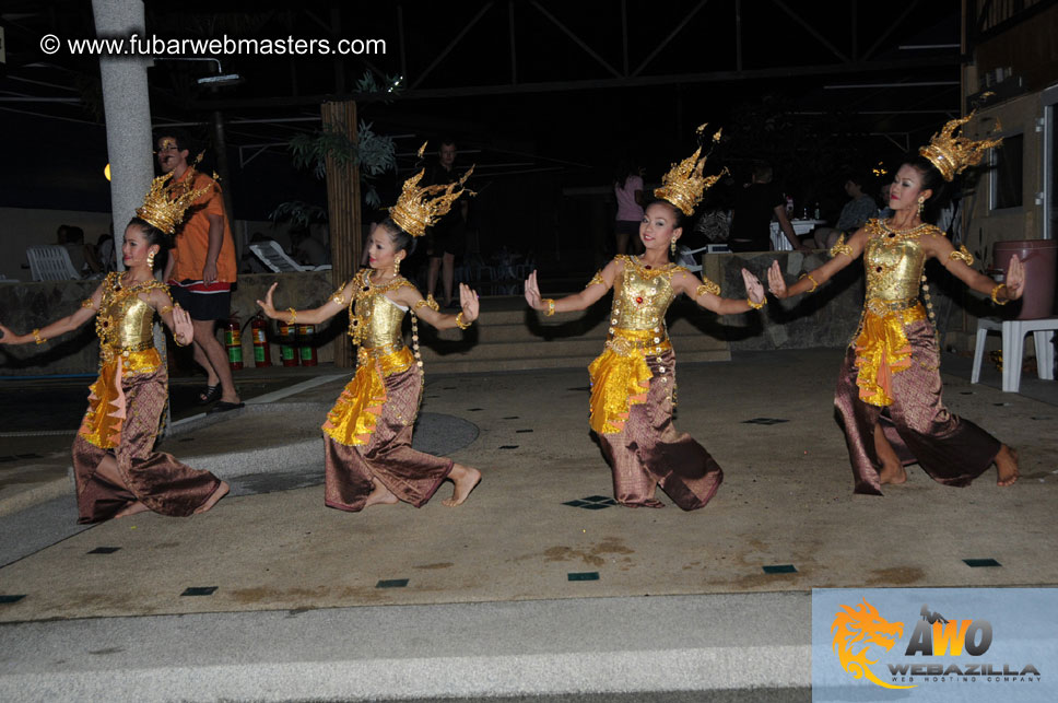
[[[705,507],[724,472],[705,447],[673,426],[675,354],[648,355],[646,363],[651,373],[646,400],[630,406],[621,432],[598,434],[613,472],[613,497],[630,507],[663,507],[655,497],[660,485],[684,511]]]

